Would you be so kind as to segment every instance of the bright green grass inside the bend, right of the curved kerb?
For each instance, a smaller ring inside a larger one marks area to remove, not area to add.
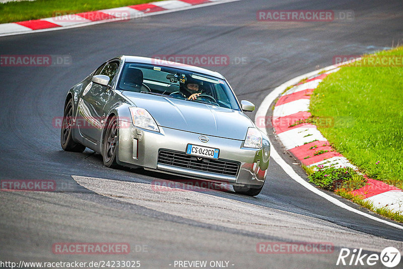
[[[376,53],[403,55],[403,47]],[[403,68],[344,66],[314,91],[310,111],[338,152],[371,178],[403,188]]]

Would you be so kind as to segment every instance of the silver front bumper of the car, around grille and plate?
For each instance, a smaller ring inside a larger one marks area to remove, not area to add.
[[[161,132],[154,132],[137,128],[127,122],[121,123],[124,127],[119,128],[117,162],[123,166],[144,167],[174,175],[236,185],[261,186],[264,183],[270,157],[268,143],[263,143],[262,149],[250,149],[242,147],[243,141],[213,136],[208,136],[209,142],[202,143],[198,139],[200,133],[161,126]],[[160,150],[185,154],[187,144],[220,149],[219,160],[239,164],[236,176],[158,163]]]

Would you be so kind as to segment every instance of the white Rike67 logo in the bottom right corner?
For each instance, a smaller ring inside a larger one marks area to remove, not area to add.
[[[375,265],[379,262],[386,267],[395,267],[400,262],[400,252],[395,247],[386,247],[381,254],[362,254],[362,248],[351,251],[348,248],[340,250],[336,265]]]

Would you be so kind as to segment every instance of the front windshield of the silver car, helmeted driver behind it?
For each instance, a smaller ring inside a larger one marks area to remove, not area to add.
[[[127,62],[123,66],[117,90],[162,95],[240,110],[224,80],[166,66]],[[191,98],[192,94],[197,98]]]

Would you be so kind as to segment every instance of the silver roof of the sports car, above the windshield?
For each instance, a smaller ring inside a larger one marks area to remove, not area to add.
[[[162,59],[154,59],[154,58],[148,58],[148,57],[140,57],[140,56],[129,56],[129,55],[120,55],[120,56],[117,56],[115,58],[122,59],[125,62],[148,63],[148,64],[155,64],[155,65],[158,65],[158,66],[166,66],[166,67],[171,67],[171,68],[177,68],[177,69],[182,69],[182,70],[187,70],[187,71],[190,71],[190,72],[205,74],[205,75],[209,75],[209,76],[212,76],[212,77],[216,77],[216,78],[225,80],[223,75],[221,75],[218,72],[211,71],[211,70],[204,69],[204,68],[199,68],[199,67],[193,66],[193,65],[187,65],[187,64],[183,64],[183,63],[178,63],[179,66],[176,66],[175,62],[172,62],[172,61],[167,61],[167,60],[162,60]],[[156,63],[158,63],[158,64],[156,64]]]

